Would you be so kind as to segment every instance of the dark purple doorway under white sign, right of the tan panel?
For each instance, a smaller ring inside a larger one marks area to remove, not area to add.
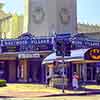
[[[41,83],[42,81],[41,59],[32,59],[28,62],[28,81]]]

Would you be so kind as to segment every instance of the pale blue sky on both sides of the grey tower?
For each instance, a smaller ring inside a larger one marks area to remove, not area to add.
[[[23,14],[24,0],[0,0],[4,10]],[[100,0],[77,0],[77,20],[81,23],[100,24]]]

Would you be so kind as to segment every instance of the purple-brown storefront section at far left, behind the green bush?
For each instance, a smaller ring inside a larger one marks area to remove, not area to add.
[[[0,79],[6,79],[7,82],[15,82],[16,69],[16,54],[0,54]]]

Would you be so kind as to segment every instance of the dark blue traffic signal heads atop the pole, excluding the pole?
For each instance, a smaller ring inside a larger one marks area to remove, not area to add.
[[[55,37],[56,56],[70,56],[71,51],[71,34],[62,33]]]

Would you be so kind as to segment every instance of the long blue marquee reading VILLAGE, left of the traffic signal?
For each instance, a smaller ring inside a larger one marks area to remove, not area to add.
[[[0,40],[2,52],[48,51],[53,50],[51,37],[34,37],[25,34],[17,39]]]

